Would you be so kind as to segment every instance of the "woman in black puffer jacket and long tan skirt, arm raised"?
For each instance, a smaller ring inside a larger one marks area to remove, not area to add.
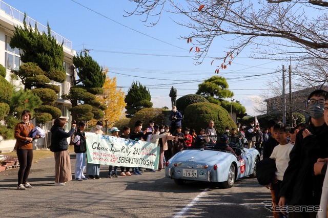
[[[50,150],[55,156],[55,184],[65,185],[67,181],[72,180],[71,160],[68,152],[67,138],[75,132],[76,124],[72,124],[70,132],[65,132],[64,126],[66,118],[57,118],[50,129],[51,145]]]

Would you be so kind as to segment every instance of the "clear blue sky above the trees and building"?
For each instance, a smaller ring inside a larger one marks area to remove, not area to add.
[[[72,48],[77,52],[83,48],[90,50],[90,56],[100,66],[109,68],[109,76],[116,76],[117,86],[126,93],[133,81],[140,81],[149,88],[154,107],[170,107],[172,86],[179,98],[195,94],[201,81],[217,75],[214,71],[219,61],[211,66],[213,59],[205,58],[202,64],[196,65],[193,54],[189,53],[192,45],[179,39],[190,32],[172,21],[183,20],[181,16],[165,13],[155,27],[147,27],[140,21],[141,17],[124,17],[127,15],[124,9],[134,8],[128,0],[4,2],[45,26],[49,21],[51,29],[72,41]],[[221,57],[227,43],[217,39],[209,56]],[[250,49],[243,50],[219,75],[227,78],[233,98],[247,108],[248,114],[254,115],[252,99],[269,93],[265,82],[275,81],[275,76],[280,74],[273,73],[289,63],[248,58],[251,54]],[[245,76],[248,78],[239,78]]]

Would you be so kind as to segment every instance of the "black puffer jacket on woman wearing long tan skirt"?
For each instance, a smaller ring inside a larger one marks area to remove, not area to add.
[[[50,150],[52,152],[58,152],[68,149],[67,138],[72,136],[75,132],[75,128],[71,128],[70,132],[66,133],[64,128],[59,126],[52,126],[50,129],[51,132],[51,145]]]

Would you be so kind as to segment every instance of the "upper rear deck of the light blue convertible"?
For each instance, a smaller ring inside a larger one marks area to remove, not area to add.
[[[178,152],[169,162],[207,162],[218,163],[221,160],[233,156],[230,153],[215,150],[182,150]]]

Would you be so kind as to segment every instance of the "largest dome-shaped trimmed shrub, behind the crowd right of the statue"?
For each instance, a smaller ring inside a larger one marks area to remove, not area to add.
[[[207,128],[210,120],[214,121],[214,128],[218,135],[224,133],[226,126],[237,128],[228,112],[217,104],[194,103],[185,109],[183,124],[185,127],[195,129],[197,133],[201,128]]]

